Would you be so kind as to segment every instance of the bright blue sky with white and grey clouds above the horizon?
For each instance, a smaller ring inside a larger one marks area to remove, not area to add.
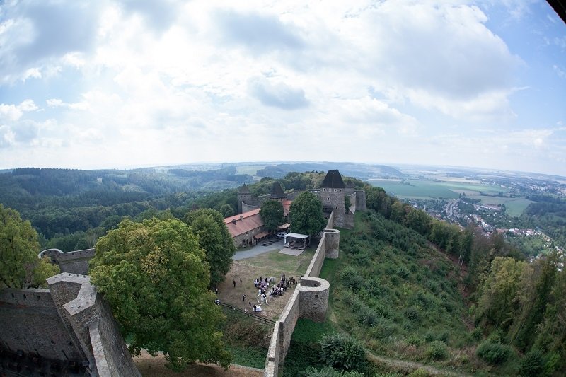
[[[0,0],[0,168],[238,161],[566,175],[566,24],[538,0]]]

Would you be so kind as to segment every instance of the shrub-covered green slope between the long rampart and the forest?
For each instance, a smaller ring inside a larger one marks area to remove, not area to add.
[[[342,258],[333,284],[334,318],[379,354],[424,360],[429,345],[446,345],[446,364],[466,364],[474,343],[460,274],[416,232],[378,214],[357,214],[341,232]],[[441,347],[441,346],[439,346]]]

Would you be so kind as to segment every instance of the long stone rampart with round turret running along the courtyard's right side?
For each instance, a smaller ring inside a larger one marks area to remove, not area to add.
[[[320,238],[311,263],[308,265],[304,276],[301,277],[301,282],[295,289],[293,296],[287,301],[279,320],[275,323],[270,348],[267,350],[267,359],[265,360],[265,377],[277,377],[279,365],[284,362],[285,356],[287,356],[291,336],[299,318],[318,322],[322,322],[326,318],[330,283],[325,279],[318,278],[318,275],[320,269],[322,269],[325,255],[329,253],[328,245],[330,245],[330,248],[335,248],[337,257],[340,231],[332,229],[334,218],[333,211],[328,218],[327,229]],[[329,241],[331,236],[332,239]],[[334,255],[334,250],[330,251],[330,254]]]

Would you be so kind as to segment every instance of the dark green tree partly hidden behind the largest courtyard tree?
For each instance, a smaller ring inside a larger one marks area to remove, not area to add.
[[[219,211],[214,209],[197,209],[185,215],[185,223],[199,238],[199,246],[204,249],[210,266],[210,286],[216,286],[232,266],[232,256],[236,253],[236,245]]]

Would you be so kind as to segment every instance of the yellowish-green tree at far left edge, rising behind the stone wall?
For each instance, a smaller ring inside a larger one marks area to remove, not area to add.
[[[30,221],[0,204],[0,288],[40,288],[47,277],[59,273],[49,258],[37,258],[39,248]]]

